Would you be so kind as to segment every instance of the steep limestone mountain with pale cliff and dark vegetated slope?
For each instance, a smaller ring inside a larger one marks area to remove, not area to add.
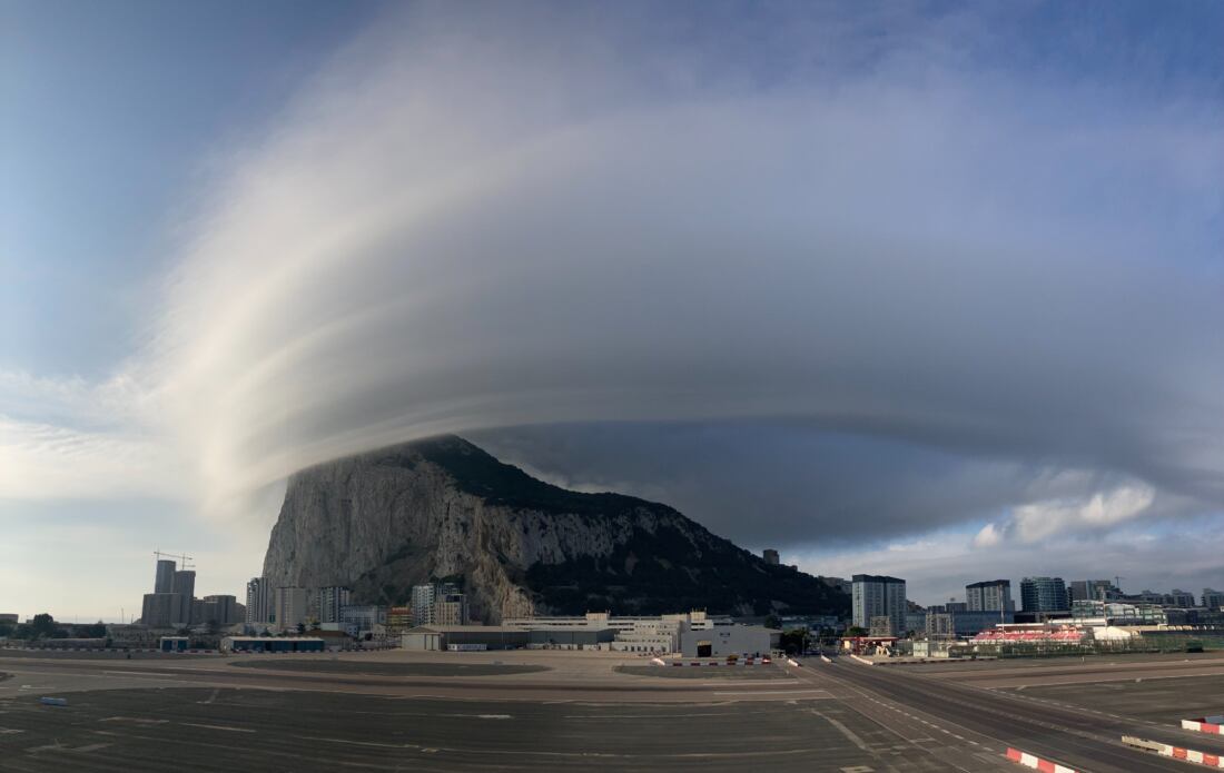
[[[463,583],[474,618],[531,613],[843,612],[843,593],[769,566],[665,505],[531,478],[454,435],[296,473],[272,531],[272,587],[353,588],[406,603]]]

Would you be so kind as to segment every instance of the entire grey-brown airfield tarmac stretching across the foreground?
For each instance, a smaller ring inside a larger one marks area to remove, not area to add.
[[[667,668],[553,651],[81,654],[0,651],[13,675],[0,680],[0,769],[1015,771],[1004,755],[1016,746],[1081,771],[1184,771],[1120,736],[1202,749],[1165,717],[1211,702],[1191,687],[1208,684],[1198,671],[1224,679],[1224,658],[927,670],[842,658]],[[1095,681],[1059,693],[1077,674]]]

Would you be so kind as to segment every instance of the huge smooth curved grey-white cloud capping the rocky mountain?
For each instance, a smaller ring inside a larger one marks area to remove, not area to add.
[[[209,500],[443,431],[760,417],[1224,499],[1224,312],[1153,216],[1197,212],[1211,121],[552,22],[389,20],[234,152],[142,364]]]

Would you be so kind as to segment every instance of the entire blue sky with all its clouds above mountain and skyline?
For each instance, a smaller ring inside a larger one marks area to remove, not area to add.
[[[0,20],[0,608],[237,593],[439,431],[918,601],[1224,583],[1219,4]]]

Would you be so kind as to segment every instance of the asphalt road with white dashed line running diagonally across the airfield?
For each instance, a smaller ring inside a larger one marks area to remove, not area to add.
[[[1184,762],[1149,756],[1125,747],[1124,734],[1191,746],[1203,751],[1222,747],[1209,738],[1149,720],[1115,713],[1051,703],[1047,700],[958,684],[906,668],[868,667],[849,659],[832,664],[813,662],[804,670],[815,684],[840,685],[840,695],[859,693],[880,713],[901,725],[931,724],[979,744],[1015,746],[1069,767],[1097,773],[1185,771]]]

